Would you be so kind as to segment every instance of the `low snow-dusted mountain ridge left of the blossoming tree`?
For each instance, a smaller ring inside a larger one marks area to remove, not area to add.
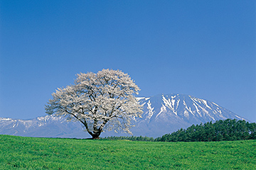
[[[31,120],[0,118],[0,134],[26,137],[89,137],[77,122],[46,115]]]

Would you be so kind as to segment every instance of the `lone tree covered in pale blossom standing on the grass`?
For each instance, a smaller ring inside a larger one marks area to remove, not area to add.
[[[131,134],[132,119],[142,114],[142,106],[134,96],[139,90],[129,75],[119,70],[80,73],[75,84],[52,94],[45,109],[49,115],[80,121],[92,139],[104,130]]]

